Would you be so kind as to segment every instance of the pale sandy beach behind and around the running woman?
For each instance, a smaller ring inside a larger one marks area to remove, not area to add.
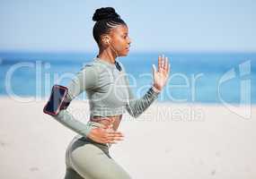
[[[44,104],[0,98],[0,178],[64,178],[75,132],[44,115]],[[69,110],[87,121],[86,101],[75,100]],[[155,102],[136,119],[124,115],[125,141],[110,155],[135,179],[254,179],[255,129],[255,106],[245,119],[223,105]]]

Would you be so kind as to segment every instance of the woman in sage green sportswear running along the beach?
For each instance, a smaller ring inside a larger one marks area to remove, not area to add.
[[[118,132],[122,115],[141,115],[158,97],[169,76],[168,58],[158,57],[153,64],[153,83],[142,98],[135,98],[128,85],[123,64],[117,59],[129,52],[128,25],[112,7],[93,14],[93,38],[99,54],[76,73],[67,86],[70,102],[83,91],[89,99],[90,120],[84,124],[66,109],[54,118],[77,133],[66,149],[65,179],[129,179],[128,172],[110,156],[110,145],[123,140]],[[125,87],[125,88],[124,88]]]

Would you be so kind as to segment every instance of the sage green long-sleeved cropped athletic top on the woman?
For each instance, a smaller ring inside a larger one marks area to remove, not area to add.
[[[120,71],[117,65],[121,67]],[[76,73],[67,89],[69,101],[84,90],[86,91],[91,112],[90,118],[122,115],[125,111],[137,117],[153,103],[159,94],[151,87],[142,98],[135,98],[128,85],[128,76],[124,66],[117,60],[116,64],[110,64],[98,57]],[[66,109],[61,110],[54,118],[84,137],[90,132],[88,131],[90,126],[76,120]]]

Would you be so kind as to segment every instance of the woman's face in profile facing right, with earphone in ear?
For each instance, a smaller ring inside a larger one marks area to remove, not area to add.
[[[129,52],[131,39],[128,37],[128,27],[126,25],[118,25],[110,30],[110,48],[119,56],[126,56]]]

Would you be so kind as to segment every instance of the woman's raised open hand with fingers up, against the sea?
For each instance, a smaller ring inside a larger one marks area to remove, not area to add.
[[[168,57],[164,55],[158,56],[158,69],[156,70],[155,65],[153,64],[153,80],[154,88],[156,90],[162,90],[166,81],[168,80],[170,72],[170,64],[168,63]]]

